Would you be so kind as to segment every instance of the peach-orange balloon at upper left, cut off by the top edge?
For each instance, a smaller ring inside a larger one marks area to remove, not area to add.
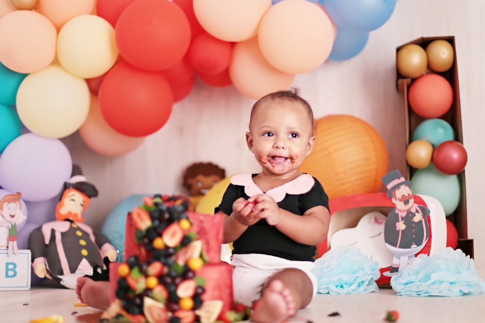
[[[54,24],[57,31],[78,15],[89,15],[93,12],[95,0],[38,0],[37,12],[45,15]]]

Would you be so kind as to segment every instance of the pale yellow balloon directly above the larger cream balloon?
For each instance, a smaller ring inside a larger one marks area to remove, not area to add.
[[[97,15],[79,15],[65,23],[57,37],[57,57],[74,76],[93,78],[113,67],[118,58],[114,28]]]

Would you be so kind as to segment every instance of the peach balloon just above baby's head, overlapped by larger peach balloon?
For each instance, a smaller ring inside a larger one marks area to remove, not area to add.
[[[236,43],[229,65],[232,84],[241,94],[253,99],[291,86],[294,75],[271,66],[261,54],[257,37]]]

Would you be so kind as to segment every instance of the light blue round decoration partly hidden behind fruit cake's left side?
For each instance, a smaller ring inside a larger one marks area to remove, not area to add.
[[[125,224],[126,215],[133,208],[143,204],[143,198],[153,194],[134,194],[125,200],[122,200],[114,206],[111,212],[106,216],[101,233],[104,234],[118,253],[118,261],[123,261],[125,251]]]

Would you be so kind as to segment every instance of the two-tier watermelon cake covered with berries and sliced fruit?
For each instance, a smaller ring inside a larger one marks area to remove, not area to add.
[[[99,322],[247,320],[235,304],[232,266],[221,261],[223,217],[189,211],[183,196],[156,194],[127,215],[124,263],[110,264],[111,307]]]

